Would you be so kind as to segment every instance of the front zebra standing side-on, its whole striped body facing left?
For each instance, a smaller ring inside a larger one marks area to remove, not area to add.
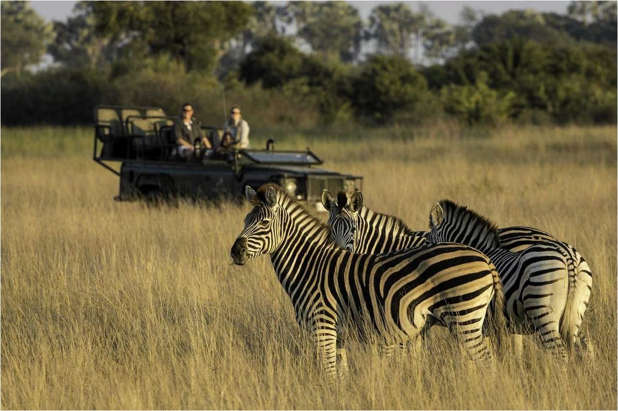
[[[442,243],[353,254],[332,244],[328,226],[279,186],[267,184],[257,192],[247,186],[245,196],[253,209],[232,246],[232,260],[245,265],[271,256],[296,320],[312,331],[328,375],[337,374],[337,352],[345,354],[342,333],[348,323],[360,336],[365,327],[378,334],[390,352],[402,342],[419,341],[421,329],[435,321],[449,328],[472,359],[491,362],[481,333],[491,301],[496,309],[489,322],[500,330],[506,318],[496,269],[481,252]]]

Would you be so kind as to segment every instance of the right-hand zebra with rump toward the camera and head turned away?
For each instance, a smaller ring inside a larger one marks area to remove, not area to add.
[[[574,247],[547,240],[510,252],[501,247],[493,223],[449,200],[431,209],[427,241],[454,241],[488,255],[504,286],[511,330],[535,333],[544,347],[556,350],[564,359],[568,357],[567,349],[591,351],[580,327],[592,289],[592,274]]]

